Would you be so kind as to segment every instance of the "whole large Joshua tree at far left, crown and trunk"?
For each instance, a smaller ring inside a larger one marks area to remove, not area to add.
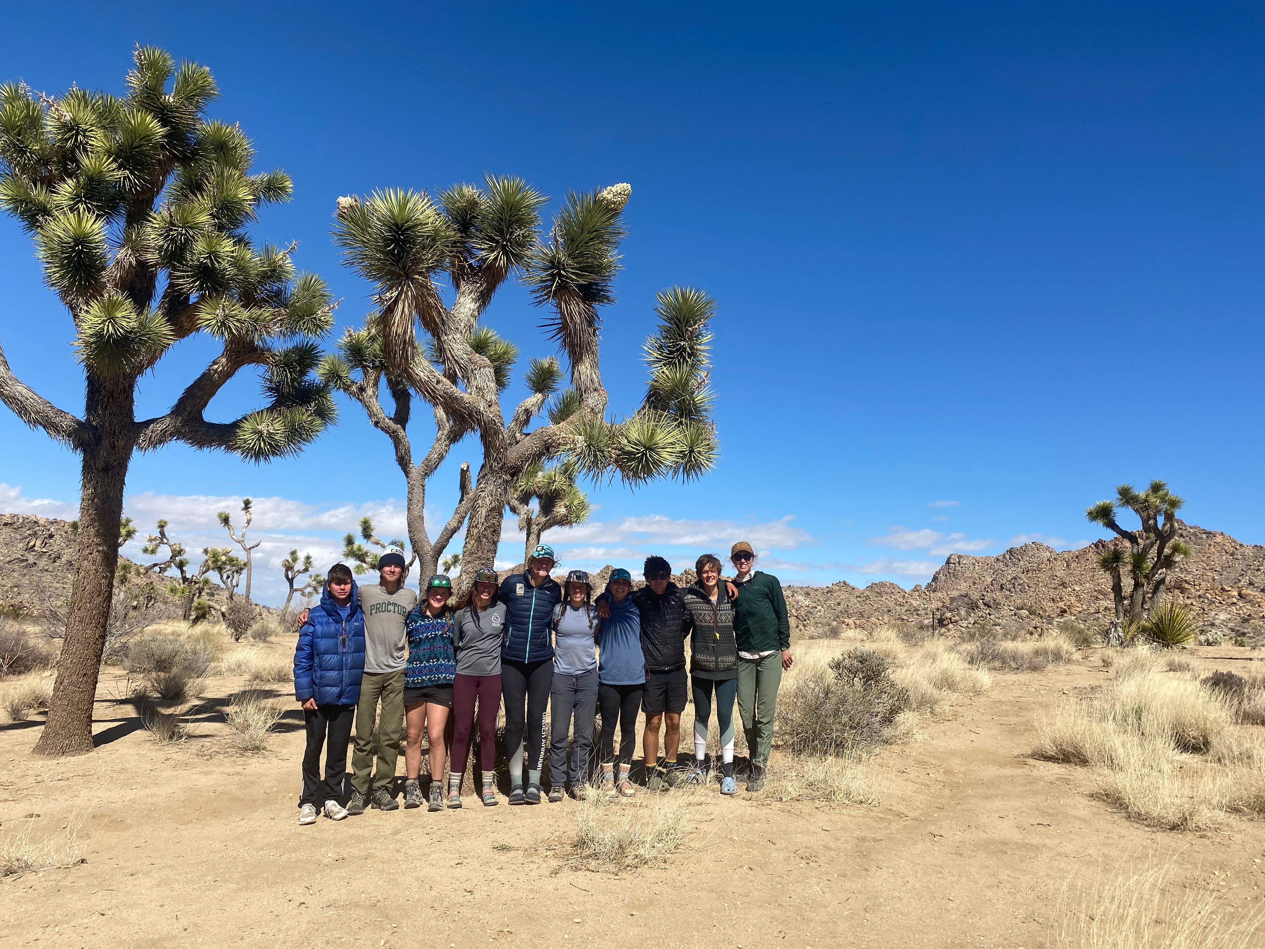
[[[0,204],[34,239],[85,377],[78,418],[22,383],[0,353],[0,401],[81,459],[71,609],[40,754],[92,750],[133,453],[183,442],[264,461],[300,450],[334,418],[329,390],[309,375],[331,324],[329,291],[296,278],[293,245],[257,247],[247,230],[261,205],[290,197],[288,176],[252,175],[240,128],[204,118],[216,96],[209,70],[151,47],[133,58],[121,97],[0,87]],[[137,419],[140,377],[199,333],[221,352],[166,415]],[[247,366],[263,371],[266,407],[207,421],[210,401]]]

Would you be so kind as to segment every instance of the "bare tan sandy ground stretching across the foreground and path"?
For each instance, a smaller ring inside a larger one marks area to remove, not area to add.
[[[228,754],[213,726],[164,749],[102,700],[97,730],[118,738],[86,758],[32,758],[38,726],[0,726],[0,830],[40,836],[78,815],[89,841],[85,864],[0,882],[0,948],[1036,949],[1069,876],[1152,854],[1236,905],[1260,900],[1265,824],[1150,831],[1092,800],[1083,772],[1023,757],[1035,716],[1102,677],[1088,663],[997,674],[926,741],[878,758],[873,809],[707,792],[686,850],[624,876],[564,868],[569,800],[299,828],[300,729],[257,758]]]

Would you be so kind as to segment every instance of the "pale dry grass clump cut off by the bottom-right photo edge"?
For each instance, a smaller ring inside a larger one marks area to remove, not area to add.
[[[1175,887],[1168,867],[1064,887],[1058,949],[1252,949],[1265,915],[1231,915],[1209,886]]]

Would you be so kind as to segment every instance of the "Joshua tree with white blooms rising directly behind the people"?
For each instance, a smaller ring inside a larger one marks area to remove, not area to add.
[[[397,388],[407,386],[434,409],[440,452],[467,431],[479,438],[474,496],[462,500],[469,504],[466,564],[493,563],[512,486],[536,464],[569,457],[582,473],[640,483],[697,477],[713,463],[707,326],[715,304],[698,290],[659,294],[659,330],[646,343],[646,396],[629,419],[606,418],[598,307],[614,301],[630,194],[627,185],[568,194],[546,237],[539,233],[545,199],[519,178],[458,185],[438,204],[395,190],[338,200],[334,238],[373,283],[377,309],[362,333],[381,353],[388,385],[397,380]],[[555,358],[533,359],[524,380],[530,395],[506,418],[501,392],[516,349],[478,320],[511,273],[536,305],[549,307],[546,329],[567,361],[571,387],[558,391],[564,369]],[[436,290],[440,277],[453,287],[450,305]],[[416,342],[417,325],[425,347]],[[350,372],[345,358],[321,367],[321,377],[344,391],[354,385]],[[528,431],[546,407],[549,424]]]

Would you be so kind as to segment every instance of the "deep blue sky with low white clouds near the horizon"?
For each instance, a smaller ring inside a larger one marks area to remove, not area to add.
[[[301,242],[343,324],[368,288],[329,238],[339,195],[484,171],[554,197],[630,182],[611,407],[640,399],[655,291],[703,287],[722,454],[693,485],[595,490],[592,523],[553,537],[567,566],[684,564],[745,538],[783,580],[910,586],[954,550],[1090,540],[1084,507],[1152,477],[1188,520],[1265,542],[1261,9],[880,8],[47,3],[8,10],[0,72],[119,91],[135,42],[207,65],[214,114],[295,181],[257,233]],[[81,407],[70,321],[13,219],[0,261],[9,362]],[[525,366],[550,352],[540,316],[514,287],[488,321]],[[143,410],[209,356],[182,344]],[[256,402],[244,377],[214,407]],[[221,543],[218,507],[269,499],[271,563],[290,545],[330,559],[362,512],[402,533],[386,439],[354,404],[342,419],[262,467],[138,457],[128,511],[200,547]],[[68,453],[4,410],[0,439],[0,507],[73,509]],[[460,461],[477,467],[474,444],[440,472],[436,515]]]

